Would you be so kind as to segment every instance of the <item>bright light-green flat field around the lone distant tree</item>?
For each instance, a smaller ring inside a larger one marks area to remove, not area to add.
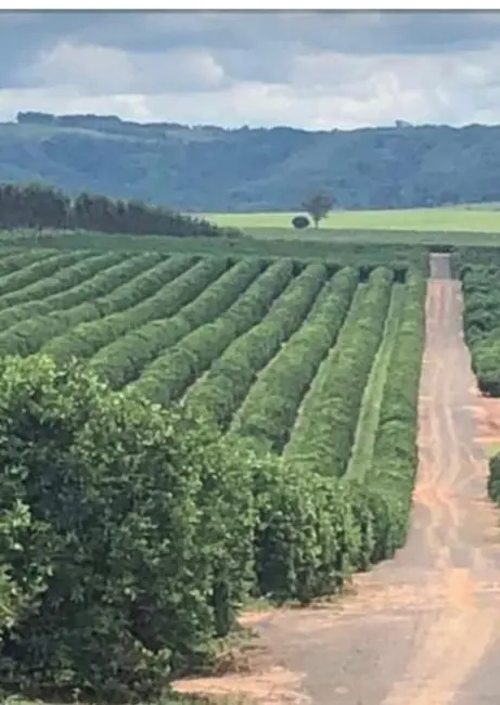
[[[268,231],[268,236],[274,236],[275,231],[280,231],[279,236],[283,236],[281,231],[297,234],[290,227],[297,213],[214,213],[204,214],[204,217],[219,226],[242,228],[249,234],[264,234]],[[338,210],[321,222],[320,232],[329,230],[500,233],[500,209],[490,205],[489,208],[467,206],[411,210]],[[313,234],[312,231],[313,228],[299,234]]]

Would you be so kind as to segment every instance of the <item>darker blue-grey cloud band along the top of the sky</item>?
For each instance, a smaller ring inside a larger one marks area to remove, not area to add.
[[[3,20],[2,20],[3,15]],[[342,53],[421,53],[477,49],[498,39],[495,12],[43,12],[1,13],[0,44],[55,38],[163,51],[179,46],[248,49],[302,44]]]

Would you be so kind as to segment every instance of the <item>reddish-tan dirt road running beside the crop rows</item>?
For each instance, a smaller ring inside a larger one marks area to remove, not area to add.
[[[335,606],[256,617],[275,668],[202,690],[268,705],[500,703],[500,531],[477,440],[489,401],[471,372],[461,307],[447,256],[433,256],[407,546]]]

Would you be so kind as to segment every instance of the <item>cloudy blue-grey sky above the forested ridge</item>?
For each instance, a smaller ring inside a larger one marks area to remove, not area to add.
[[[500,12],[0,12],[17,111],[223,127],[500,123]]]

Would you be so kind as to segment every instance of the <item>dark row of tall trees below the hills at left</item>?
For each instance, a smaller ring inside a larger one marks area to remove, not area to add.
[[[218,228],[204,219],[182,216],[143,201],[114,201],[80,193],[70,198],[48,185],[0,184],[0,229],[89,230],[175,238],[235,236],[233,228]]]

